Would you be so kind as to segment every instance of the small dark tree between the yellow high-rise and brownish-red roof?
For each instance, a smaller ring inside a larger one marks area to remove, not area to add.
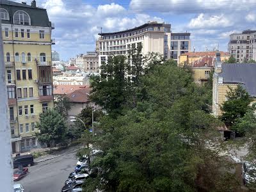
[[[68,111],[71,109],[71,104],[68,97],[64,95],[54,100],[54,109],[56,109],[56,111],[58,111],[65,119],[67,119]]]

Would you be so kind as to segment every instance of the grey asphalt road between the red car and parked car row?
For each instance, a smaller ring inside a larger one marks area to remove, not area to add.
[[[76,163],[76,152],[37,163],[29,167],[26,177],[15,183],[22,184],[24,192],[59,192]]]

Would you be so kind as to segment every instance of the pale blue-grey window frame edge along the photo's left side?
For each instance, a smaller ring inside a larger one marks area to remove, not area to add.
[[[0,94],[0,170],[4,175],[0,179],[1,191],[13,191],[13,173],[12,173],[12,155],[11,155],[11,132],[10,132],[10,120],[8,118],[8,100],[7,100],[7,88],[5,79],[5,65],[3,54],[3,38],[2,28],[0,20],[0,88],[2,90]]]

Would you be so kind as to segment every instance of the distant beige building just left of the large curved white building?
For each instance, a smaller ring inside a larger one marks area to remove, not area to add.
[[[84,72],[99,72],[99,56],[97,52],[87,52],[83,55]]]

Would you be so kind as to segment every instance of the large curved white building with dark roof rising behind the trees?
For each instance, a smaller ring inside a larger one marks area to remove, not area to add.
[[[99,67],[108,62],[108,56],[127,54],[132,48],[142,45],[142,54],[158,52],[170,58],[171,25],[148,22],[137,28],[115,33],[99,33]]]

